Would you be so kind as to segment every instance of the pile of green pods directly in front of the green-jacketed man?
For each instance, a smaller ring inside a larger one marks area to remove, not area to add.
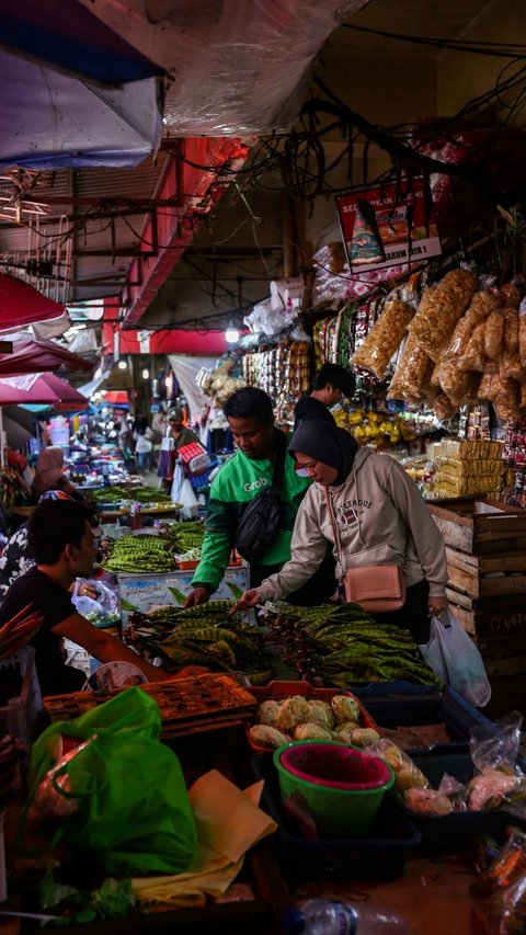
[[[262,672],[263,636],[236,608],[236,601],[209,601],[186,611],[167,606],[151,614],[130,614],[125,638],[142,657],[159,657],[168,671],[183,665],[206,665],[214,672],[242,670],[252,684],[265,683],[272,672]]]

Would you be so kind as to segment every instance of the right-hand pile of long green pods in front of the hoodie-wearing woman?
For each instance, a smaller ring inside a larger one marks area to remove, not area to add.
[[[359,604],[267,603],[264,623],[266,638],[283,647],[285,663],[324,685],[439,681],[423,662],[409,630],[376,623]]]

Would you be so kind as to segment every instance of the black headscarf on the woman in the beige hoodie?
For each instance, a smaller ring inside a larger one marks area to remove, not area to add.
[[[331,425],[321,419],[302,422],[293,435],[288,451],[293,458],[296,452],[315,458],[338,470],[334,484],[343,483],[353,467],[358,443],[344,429]]]

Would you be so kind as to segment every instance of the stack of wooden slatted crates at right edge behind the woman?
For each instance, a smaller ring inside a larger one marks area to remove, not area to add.
[[[526,712],[526,510],[489,499],[430,501],[446,543],[451,608],[484,659],[484,715]]]

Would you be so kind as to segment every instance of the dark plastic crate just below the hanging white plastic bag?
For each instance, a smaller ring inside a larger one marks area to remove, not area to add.
[[[350,686],[350,691],[380,728],[445,723],[451,744],[464,746],[472,727],[492,725],[478,708],[445,685],[375,682],[366,687]]]

